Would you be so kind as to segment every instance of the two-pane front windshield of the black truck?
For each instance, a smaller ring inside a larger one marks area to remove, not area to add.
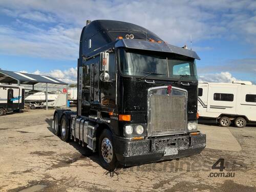
[[[197,79],[194,59],[120,50],[121,72],[144,78]]]

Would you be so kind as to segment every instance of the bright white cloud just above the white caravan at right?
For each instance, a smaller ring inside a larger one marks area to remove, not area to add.
[[[239,80],[233,77],[229,72],[208,73],[199,76],[199,81],[203,82],[232,82]]]

